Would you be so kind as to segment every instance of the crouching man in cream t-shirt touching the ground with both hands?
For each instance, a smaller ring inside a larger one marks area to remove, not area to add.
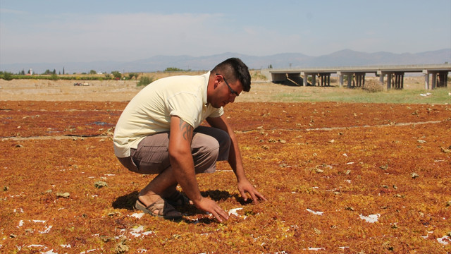
[[[125,107],[114,131],[114,151],[130,171],[156,174],[140,191],[135,207],[166,219],[182,214],[177,205],[190,201],[222,222],[228,214],[202,197],[196,174],[214,172],[227,160],[237,177],[242,198],[266,200],[247,180],[237,139],[223,107],[244,90],[251,78],[245,63],[231,58],[204,75],[180,75],[156,80]],[[206,120],[211,127],[199,126]],[[176,190],[180,184],[187,198]]]

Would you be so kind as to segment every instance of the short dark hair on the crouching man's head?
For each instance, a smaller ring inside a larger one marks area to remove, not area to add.
[[[249,68],[247,68],[246,64],[239,58],[233,57],[219,63],[211,70],[211,73],[224,75],[231,83],[240,80],[243,91],[249,92],[249,90],[251,90],[251,75],[249,73]]]

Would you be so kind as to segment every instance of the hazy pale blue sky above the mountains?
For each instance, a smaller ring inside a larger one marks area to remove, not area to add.
[[[451,48],[450,0],[0,0],[0,63]]]

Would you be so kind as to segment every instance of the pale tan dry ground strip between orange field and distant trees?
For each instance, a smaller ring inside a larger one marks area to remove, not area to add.
[[[371,79],[371,78],[368,78]],[[296,87],[280,85],[266,80],[252,78],[250,92],[243,92],[235,102],[271,102],[276,93],[298,92],[330,92],[330,87]],[[88,101],[88,102],[124,102],[129,101],[142,87],[137,87],[135,80],[92,80],[88,86],[74,86],[74,83],[85,83],[83,80],[11,80],[0,79],[0,101]],[[332,80],[331,86],[338,86]],[[424,78],[404,78],[404,89],[421,89]],[[346,89],[346,88],[343,88]]]

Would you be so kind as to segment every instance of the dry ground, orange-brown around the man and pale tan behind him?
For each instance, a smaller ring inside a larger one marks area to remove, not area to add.
[[[225,110],[268,200],[244,202],[220,162],[197,181],[230,219],[171,222],[134,210],[153,176],[113,155],[135,83],[0,86],[0,253],[451,252],[450,105],[264,102],[299,87],[256,83]]]

